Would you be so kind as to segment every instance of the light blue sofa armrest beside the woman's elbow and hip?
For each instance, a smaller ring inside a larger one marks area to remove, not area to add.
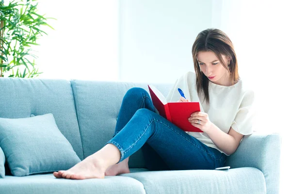
[[[278,133],[245,135],[225,166],[254,167],[264,174],[267,194],[279,193],[281,137]]]

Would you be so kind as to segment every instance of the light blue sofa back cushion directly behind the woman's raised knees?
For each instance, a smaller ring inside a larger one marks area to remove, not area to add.
[[[84,158],[101,149],[113,136],[122,99],[132,87],[148,91],[147,83],[71,80]],[[171,84],[155,86],[167,95]],[[141,149],[129,158],[129,168],[145,167]]]

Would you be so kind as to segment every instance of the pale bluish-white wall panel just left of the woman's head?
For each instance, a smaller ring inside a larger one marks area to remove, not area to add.
[[[192,46],[211,26],[211,0],[120,0],[119,79],[174,82],[194,70]]]

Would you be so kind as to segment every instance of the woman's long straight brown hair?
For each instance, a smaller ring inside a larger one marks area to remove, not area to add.
[[[198,61],[196,59],[198,52],[212,51],[215,53],[222,65],[228,70],[233,83],[239,80],[237,57],[232,42],[226,33],[218,29],[206,29],[200,32],[192,47],[192,55],[194,68],[196,73],[196,89],[198,94],[204,94],[204,100],[209,104],[209,79],[200,71]],[[221,54],[230,57],[229,68],[225,64]]]

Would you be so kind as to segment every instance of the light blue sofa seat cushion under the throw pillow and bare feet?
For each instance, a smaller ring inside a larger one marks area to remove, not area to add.
[[[0,194],[145,194],[144,185],[130,177],[108,176],[84,180],[55,178],[53,174],[5,176]]]

